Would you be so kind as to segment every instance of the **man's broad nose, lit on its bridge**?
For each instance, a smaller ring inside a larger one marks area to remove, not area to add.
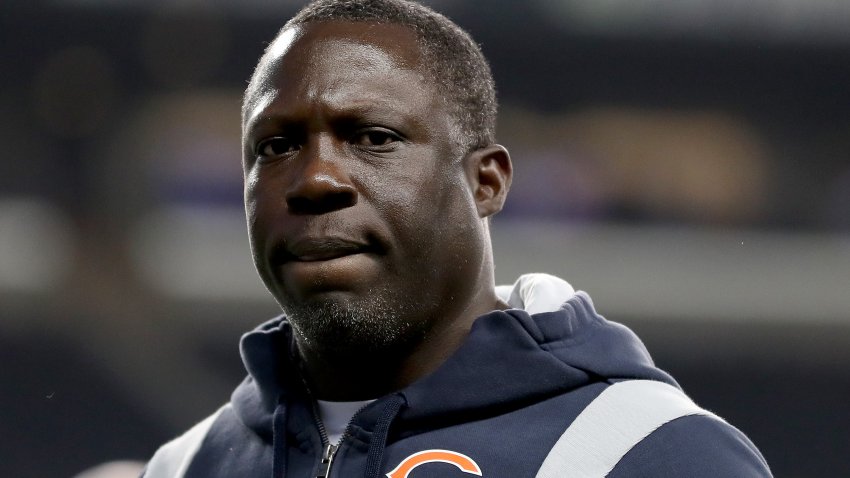
[[[291,214],[324,214],[357,204],[357,189],[346,169],[344,153],[331,141],[307,145],[286,190]]]

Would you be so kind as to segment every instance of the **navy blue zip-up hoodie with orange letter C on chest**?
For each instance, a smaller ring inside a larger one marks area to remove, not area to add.
[[[249,375],[230,404],[161,448],[144,476],[324,476],[327,439],[297,371],[289,324],[266,323],[242,338],[241,350]],[[552,312],[494,311],[436,371],[361,409],[329,476],[588,476],[570,463],[554,474],[540,469],[590,402],[636,379],[678,388],[584,293]],[[746,436],[707,413],[664,423],[614,463],[611,478],[771,476]]]

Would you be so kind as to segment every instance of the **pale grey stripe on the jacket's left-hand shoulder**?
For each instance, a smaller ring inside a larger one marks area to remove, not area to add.
[[[192,463],[192,458],[201,448],[210,428],[230,407],[229,403],[224,405],[179,437],[162,445],[148,462],[142,477],[181,478]]]

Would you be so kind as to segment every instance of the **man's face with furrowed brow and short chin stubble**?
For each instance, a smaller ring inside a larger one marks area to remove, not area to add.
[[[309,24],[261,61],[243,125],[257,270],[302,347],[404,346],[457,313],[486,230],[454,122],[396,25]]]

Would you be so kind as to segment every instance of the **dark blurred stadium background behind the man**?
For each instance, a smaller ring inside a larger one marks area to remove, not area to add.
[[[498,82],[499,280],[589,291],[777,476],[850,476],[850,2],[426,3]],[[0,475],[145,460],[241,379],[240,96],[301,4],[0,6]]]

